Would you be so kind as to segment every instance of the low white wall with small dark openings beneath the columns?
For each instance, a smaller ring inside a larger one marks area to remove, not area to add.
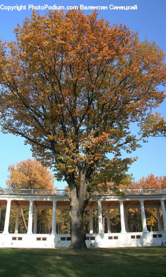
[[[140,239],[136,239],[136,236],[140,235]],[[156,235],[157,238],[153,238]],[[158,237],[162,235],[162,237]],[[131,239],[131,236],[135,236],[135,239]],[[12,240],[12,237],[16,237],[16,240]],[[18,240],[21,237],[22,240]],[[65,237],[65,241],[61,241],[61,237]],[[58,235],[48,235],[48,234],[0,234],[0,247],[22,247],[22,248],[65,248],[68,247],[70,241],[69,234],[58,234]],[[160,246],[162,242],[166,241],[166,232],[137,232],[137,233],[110,233],[110,234],[87,234],[89,240],[86,240],[86,244],[90,247],[95,245],[95,247],[135,247],[135,246]],[[94,237],[95,240],[90,240],[90,237]],[[113,237],[113,239],[109,239]],[[118,239],[115,239],[118,237]],[[41,238],[37,241],[37,238]],[[42,240],[46,238],[46,240]],[[58,241],[60,242],[58,244]],[[164,244],[166,246],[166,244]]]

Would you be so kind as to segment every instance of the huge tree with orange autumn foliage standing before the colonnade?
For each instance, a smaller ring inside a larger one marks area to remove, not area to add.
[[[15,42],[0,44],[2,131],[24,137],[66,180],[69,248],[86,248],[83,214],[93,186],[118,186],[134,160],[121,159],[121,150],[165,135],[164,118],[152,114],[164,99],[164,53],[96,12],[34,12],[14,32]]]

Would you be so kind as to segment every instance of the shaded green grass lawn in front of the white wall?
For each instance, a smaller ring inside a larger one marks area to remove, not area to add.
[[[0,276],[166,276],[166,247],[0,249]]]

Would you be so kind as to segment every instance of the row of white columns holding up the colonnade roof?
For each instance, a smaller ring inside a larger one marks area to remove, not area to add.
[[[4,231],[3,234],[9,234],[9,220],[10,220],[10,206],[11,206],[12,199],[7,199],[6,205],[6,217],[5,217],[5,224],[4,224]],[[28,218],[28,231],[27,234],[37,234],[37,220],[38,220],[38,208],[34,208],[34,200],[29,200],[29,218]],[[118,200],[120,204],[120,214],[121,214],[121,233],[128,232],[128,219],[127,219],[127,207],[124,207],[124,199]],[[140,211],[141,211],[141,221],[142,221],[142,231],[148,232],[147,225],[146,225],[146,217],[145,217],[145,210],[144,210],[144,200],[139,200],[140,202]],[[53,200],[53,217],[52,217],[52,235],[56,235],[56,209],[57,209],[57,200]],[[159,231],[166,231],[166,212],[165,212],[165,205],[164,199],[160,199],[162,215],[163,215],[163,224],[164,230],[162,230],[161,218],[160,218],[160,207],[156,207],[157,211],[157,219],[158,219],[158,230]],[[98,233],[103,234],[103,224],[102,224],[102,201],[97,201],[98,205]],[[1,211],[2,207],[0,207],[0,219],[1,219]],[[34,229],[32,231],[32,223],[33,223],[33,211],[34,211]],[[107,226],[108,226],[108,233],[111,233],[111,224],[110,224],[110,209],[107,208]],[[20,208],[17,207],[16,213],[16,222],[15,222],[15,234],[18,234],[18,223],[19,223],[19,212]],[[89,230],[90,234],[93,234],[93,208],[89,208]]]

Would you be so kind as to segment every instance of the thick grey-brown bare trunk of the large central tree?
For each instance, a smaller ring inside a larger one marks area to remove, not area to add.
[[[69,216],[71,218],[71,242],[69,249],[87,249],[85,238],[86,233],[83,227],[83,214],[85,207],[83,207],[82,201],[76,196],[69,195],[70,199],[70,211]]]

